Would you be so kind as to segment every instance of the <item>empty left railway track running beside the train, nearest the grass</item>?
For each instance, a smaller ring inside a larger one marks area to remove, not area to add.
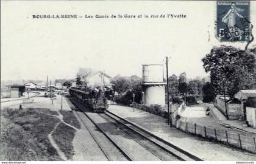
[[[123,151],[113,140],[110,138],[103,130],[101,127],[99,127],[88,115],[87,113],[83,110],[84,106],[81,104],[77,103],[76,100],[72,100],[69,98],[69,101],[73,103],[77,109],[79,109],[87,118],[87,123],[82,123],[85,125],[85,128],[87,128],[88,132],[90,133],[91,137],[93,140],[96,142],[96,144],[99,146],[103,154],[108,160],[129,160],[131,161],[132,158],[129,157],[129,155],[126,154],[126,152]],[[83,120],[80,118],[80,120]],[[88,127],[88,123],[91,123],[96,127],[96,129],[99,130],[99,132],[96,132],[97,135],[94,135],[94,132],[92,132],[92,129]],[[103,136],[102,136],[103,135]],[[105,138],[104,138],[105,137]],[[107,143],[110,142],[110,143]],[[113,148],[115,146],[115,148]],[[111,148],[110,148],[111,147]]]

